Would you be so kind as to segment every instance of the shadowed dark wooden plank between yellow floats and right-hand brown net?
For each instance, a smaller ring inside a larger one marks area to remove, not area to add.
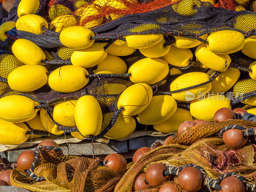
[[[151,147],[152,143],[155,141],[159,141],[162,144],[164,143],[164,140],[168,136],[164,137],[137,137],[137,138],[132,138],[129,140],[129,149],[134,150],[134,149],[139,149],[142,147]]]

